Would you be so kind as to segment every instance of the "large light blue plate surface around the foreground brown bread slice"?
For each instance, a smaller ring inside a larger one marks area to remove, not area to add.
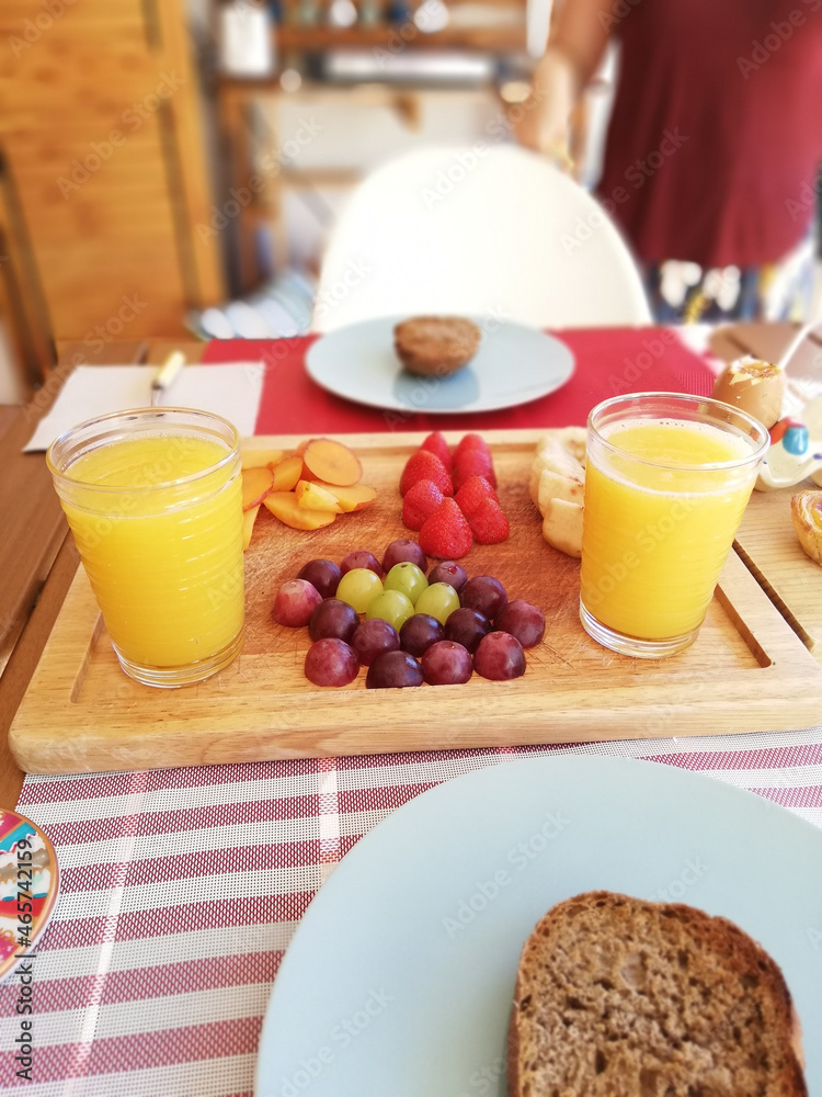
[[[553,903],[598,887],[758,940],[822,1095],[822,833],[719,781],[584,757],[448,781],[346,855],[276,977],[256,1097],[502,1097],[523,942]]]

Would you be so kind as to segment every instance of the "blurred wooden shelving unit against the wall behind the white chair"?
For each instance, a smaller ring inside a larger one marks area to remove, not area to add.
[[[227,236],[235,295],[289,270],[312,278],[346,192],[378,162],[426,142],[488,139],[489,127],[500,139],[499,89],[530,67],[525,0],[282,0],[256,9],[265,72],[252,41],[248,71],[238,64],[248,11],[227,0],[215,14],[221,192],[264,180]]]

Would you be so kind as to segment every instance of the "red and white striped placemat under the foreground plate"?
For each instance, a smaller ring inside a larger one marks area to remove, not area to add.
[[[699,388],[705,366],[693,361]],[[689,369],[682,355],[676,369]],[[480,767],[523,755],[650,759],[822,826],[822,725],[682,739],[675,731],[550,748],[27,778],[20,811],[54,841],[61,894],[33,961],[31,1082],[14,1060],[20,986],[13,977],[0,986],[0,1093],[249,1097],[277,968],[323,880],[391,811]]]

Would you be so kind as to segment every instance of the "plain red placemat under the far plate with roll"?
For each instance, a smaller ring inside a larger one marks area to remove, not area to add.
[[[584,423],[608,396],[648,389],[709,396],[715,375],[672,328],[585,328],[552,332],[573,351],[576,369],[556,393],[520,407],[469,415],[404,415],[380,411],[334,396],[308,376],[305,354],[317,336],[276,340],[215,340],[203,362],[263,361],[258,434],[302,431],[511,429]]]

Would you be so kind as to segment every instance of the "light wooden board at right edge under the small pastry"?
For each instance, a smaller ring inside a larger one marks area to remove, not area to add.
[[[819,490],[812,480],[754,491],[737,534],[737,551],[796,634],[822,663],[822,567],[799,544],[790,497]],[[822,697],[818,720],[822,720]]]

